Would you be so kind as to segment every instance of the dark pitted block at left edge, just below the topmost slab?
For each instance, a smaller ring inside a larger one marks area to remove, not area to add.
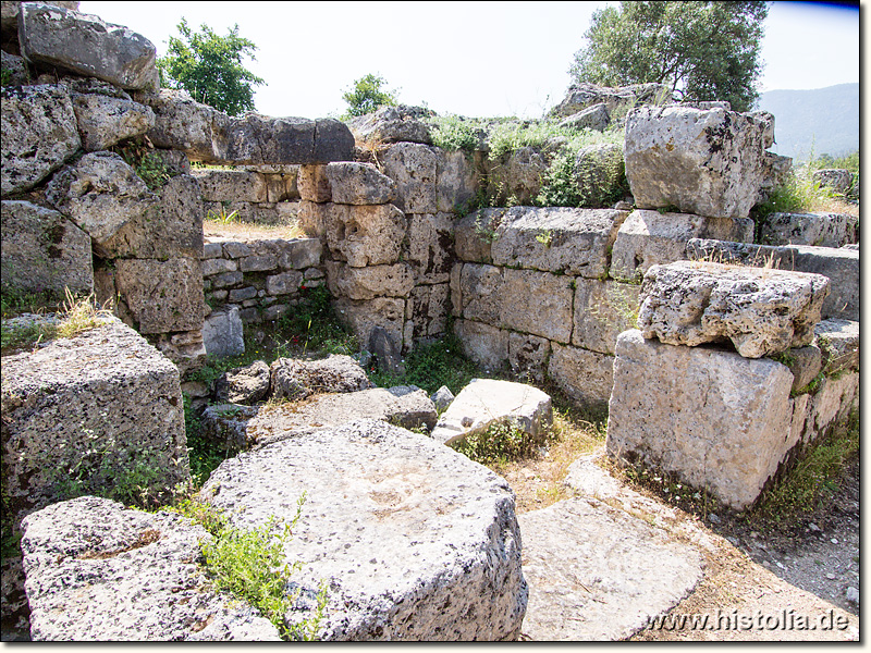
[[[33,188],[58,170],[82,147],[82,139],[65,87],[4,86],[0,99],[0,189],[5,197]]]

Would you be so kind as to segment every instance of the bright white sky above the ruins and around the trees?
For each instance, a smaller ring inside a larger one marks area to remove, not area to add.
[[[380,73],[407,104],[468,116],[540,118],[565,95],[593,10],[609,2],[110,2],[79,11],[125,25],[165,54],[184,16],[257,47],[267,115],[342,113],[354,79]],[[859,82],[859,11],[774,2],[761,90]]]

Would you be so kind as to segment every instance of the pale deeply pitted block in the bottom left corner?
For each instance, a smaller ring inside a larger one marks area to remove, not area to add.
[[[280,641],[199,565],[211,535],[181,515],[83,496],[24,520],[35,641]]]

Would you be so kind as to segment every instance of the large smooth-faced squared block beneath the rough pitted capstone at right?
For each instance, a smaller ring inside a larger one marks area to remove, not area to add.
[[[798,434],[793,374],[768,358],[617,338],[608,420],[612,457],[640,460],[735,509],[757,500]]]

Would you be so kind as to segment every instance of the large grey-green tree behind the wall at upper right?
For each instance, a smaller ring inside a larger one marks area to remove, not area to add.
[[[575,54],[575,82],[659,82],[687,100],[727,100],[749,111],[762,72],[768,3],[621,2],[597,10]]]

